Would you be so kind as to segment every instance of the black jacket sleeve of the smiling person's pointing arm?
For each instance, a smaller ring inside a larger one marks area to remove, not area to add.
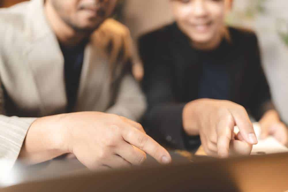
[[[144,65],[142,86],[148,101],[144,129],[164,146],[196,149],[200,145],[199,137],[184,133],[182,112],[186,103],[177,102],[173,94],[173,71],[168,66],[168,54],[159,54],[160,49],[151,48],[153,43],[150,43],[145,38],[139,40],[139,54]]]

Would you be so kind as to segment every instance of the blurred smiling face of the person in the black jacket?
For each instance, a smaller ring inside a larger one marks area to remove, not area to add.
[[[193,42],[207,44],[221,36],[231,0],[171,0],[179,28]]]

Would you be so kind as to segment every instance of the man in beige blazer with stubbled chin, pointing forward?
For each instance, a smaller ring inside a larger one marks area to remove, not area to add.
[[[0,11],[0,158],[9,166],[19,153],[29,164],[73,153],[91,169],[140,164],[145,153],[171,161],[134,122],[145,98],[130,74],[128,30],[113,20],[99,28],[116,2],[31,0]]]

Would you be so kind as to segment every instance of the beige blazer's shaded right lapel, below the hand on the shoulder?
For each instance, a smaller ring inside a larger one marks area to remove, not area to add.
[[[74,111],[104,111],[109,101],[109,63],[94,42],[86,46]]]

